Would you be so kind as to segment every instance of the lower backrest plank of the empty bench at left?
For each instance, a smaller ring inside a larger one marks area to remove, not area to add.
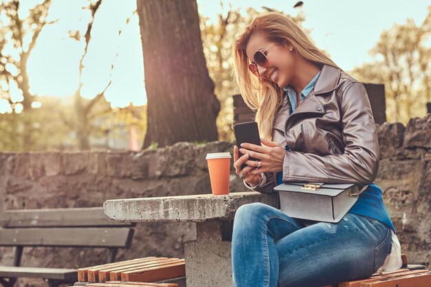
[[[129,248],[133,233],[134,229],[127,227],[0,229],[0,246]]]

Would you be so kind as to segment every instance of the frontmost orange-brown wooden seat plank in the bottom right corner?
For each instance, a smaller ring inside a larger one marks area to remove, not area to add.
[[[406,275],[403,277],[395,277],[390,279],[379,279],[373,282],[361,283],[360,287],[430,287],[431,272]]]

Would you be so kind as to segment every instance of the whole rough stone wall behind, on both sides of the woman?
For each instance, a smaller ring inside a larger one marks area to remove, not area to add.
[[[378,126],[381,162],[376,183],[410,263],[431,262],[431,114]],[[211,193],[208,152],[233,150],[233,143],[132,151],[0,153],[1,209],[102,206],[114,198]],[[231,191],[246,191],[231,170]],[[183,243],[196,237],[193,223],[136,226],[132,248],[118,259],[183,257]],[[78,268],[105,262],[103,249],[25,248],[23,266]],[[0,264],[12,264],[12,248],[0,248]],[[20,280],[42,285],[43,281]]]

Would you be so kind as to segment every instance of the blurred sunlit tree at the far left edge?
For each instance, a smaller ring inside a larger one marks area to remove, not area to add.
[[[43,27],[55,22],[46,21],[50,4],[50,0],[45,0],[27,13],[21,12],[18,0],[0,3],[0,100],[14,113],[2,116],[2,120],[8,118],[16,125],[21,123],[23,139],[20,142],[26,150],[31,149],[36,140],[32,115],[36,95],[30,93],[27,63]]]

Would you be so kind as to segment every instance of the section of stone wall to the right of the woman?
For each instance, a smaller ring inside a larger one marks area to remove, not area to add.
[[[404,127],[378,127],[381,160],[376,184],[408,261],[431,262],[431,114]]]

